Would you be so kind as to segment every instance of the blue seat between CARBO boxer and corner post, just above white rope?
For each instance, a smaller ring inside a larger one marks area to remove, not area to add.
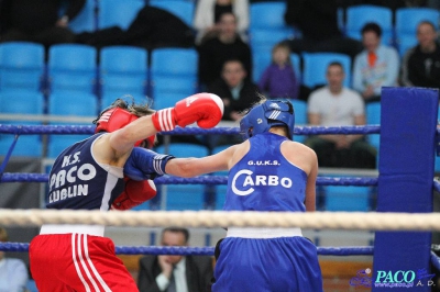
[[[355,186],[326,186],[326,211],[371,211],[371,188]]]

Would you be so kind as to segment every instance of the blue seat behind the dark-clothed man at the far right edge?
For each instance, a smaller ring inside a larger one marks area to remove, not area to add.
[[[396,10],[396,43],[400,56],[417,45],[417,26],[421,21],[431,22],[436,30],[439,27],[440,12],[430,8],[399,8]]]

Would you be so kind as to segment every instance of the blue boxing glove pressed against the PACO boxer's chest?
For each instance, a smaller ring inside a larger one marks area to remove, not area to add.
[[[165,175],[165,165],[172,155],[157,154],[155,151],[134,147],[124,165],[124,175],[132,180],[146,180]]]

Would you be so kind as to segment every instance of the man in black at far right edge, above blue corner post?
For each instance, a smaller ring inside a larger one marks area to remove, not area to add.
[[[406,87],[440,88],[440,46],[436,26],[422,21],[417,26],[418,45],[404,56],[400,83]]]

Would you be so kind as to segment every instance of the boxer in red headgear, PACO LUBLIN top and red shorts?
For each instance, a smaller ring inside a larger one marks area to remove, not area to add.
[[[74,143],[55,159],[46,209],[106,212],[147,200],[155,194],[151,180],[164,175],[173,157],[135,146],[151,147],[157,132],[176,125],[197,122],[213,127],[222,114],[221,99],[210,93],[194,94],[156,112],[117,100],[97,119],[95,135]],[[102,225],[44,224],[29,248],[32,277],[38,291],[139,291],[114,251]]]

